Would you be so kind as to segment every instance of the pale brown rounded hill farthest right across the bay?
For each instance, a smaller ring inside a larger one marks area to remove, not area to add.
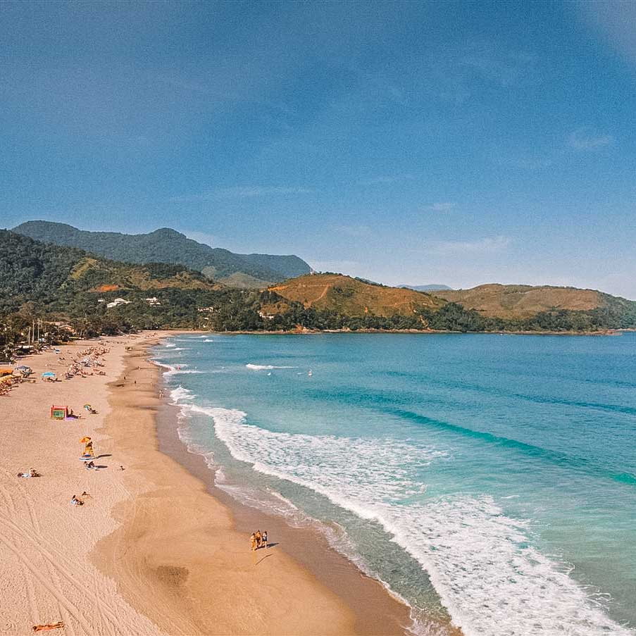
[[[543,285],[479,285],[472,289],[436,291],[435,296],[475,309],[483,316],[496,318],[529,318],[552,309],[590,311],[602,308],[621,308],[632,311],[636,303],[624,298],[576,287]]]

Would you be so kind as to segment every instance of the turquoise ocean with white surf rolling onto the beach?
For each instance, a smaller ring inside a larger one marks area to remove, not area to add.
[[[154,359],[216,485],[316,526],[413,632],[636,634],[636,334],[181,335]]]

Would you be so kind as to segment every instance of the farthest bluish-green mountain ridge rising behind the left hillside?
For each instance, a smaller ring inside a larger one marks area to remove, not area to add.
[[[14,227],[13,232],[37,241],[76,247],[115,261],[183,265],[235,287],[267,287],[272,282],[311,271],[298,256],[235,254],[198,243],[166,227],[149,234],[128,235],[87,232],[66,223],[28,221]]]

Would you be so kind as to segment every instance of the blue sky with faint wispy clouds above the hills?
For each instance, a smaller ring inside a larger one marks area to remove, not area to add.
[[[636,299],[636,4],[7,3],[0,226]]]

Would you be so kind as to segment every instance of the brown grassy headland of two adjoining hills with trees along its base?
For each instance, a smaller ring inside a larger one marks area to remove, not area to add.
[[[481,285],[427,294],[340,274],[315,274],[286,280],[268,291],[278,301],[263,306],[267,313],[289,311],[296,303],[363,318],[358,325],[374,328],[399,324],[454,331],[585,332],[636,326],[636,302],[574,287]],[[392,320],[396,316],[404,320]]]

